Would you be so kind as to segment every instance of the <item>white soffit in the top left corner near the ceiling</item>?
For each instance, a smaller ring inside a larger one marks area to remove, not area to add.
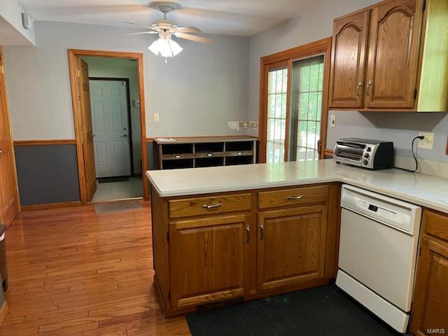
[[[3,23],[0,20],[0,44],[34,45],[34,29],[22,26],[23,10],[17,0],[0,1],[0,17],[4,20]]]

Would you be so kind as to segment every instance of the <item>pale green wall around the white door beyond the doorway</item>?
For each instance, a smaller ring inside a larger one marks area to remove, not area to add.
[[[132,130],[132,165],[134,174],[141,174],[141,132],[140,109],[134,100],[139,100],[139,80],[137,61],[107,57],[83,57],[89,66],[89,77],[127,78],[129,80],[131,130]]]

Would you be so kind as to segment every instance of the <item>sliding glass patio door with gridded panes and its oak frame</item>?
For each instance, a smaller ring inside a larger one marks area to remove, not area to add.
[[[261,58],[259,162],[324,157],[331,38]]]

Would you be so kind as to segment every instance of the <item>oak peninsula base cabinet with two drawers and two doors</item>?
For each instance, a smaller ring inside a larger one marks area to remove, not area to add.
[[[339,183],[193,197],[151,195],[155,288],[165,316],[335,277]]]

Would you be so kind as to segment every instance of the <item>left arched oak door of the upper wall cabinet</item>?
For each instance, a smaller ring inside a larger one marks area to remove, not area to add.
[[[362,108],[370,11],[335,20],[333,25],[330,107]]]

